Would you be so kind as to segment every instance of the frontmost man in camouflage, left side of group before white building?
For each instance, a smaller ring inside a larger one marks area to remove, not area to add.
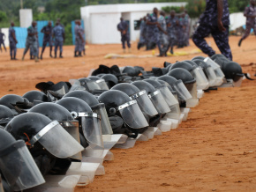
[[[166,33],[163,31],[162,27],[158,23],[158,9],[154,8],[153,13],[149,15],[147,18],[147,26],[148,26],[148,39],[149,39],[149,47],[152,46],[152,44],[157,45],[160,56],[165,56],[164,51],[161,48],[161,43],[160,43],[160,31],[163,33]]]

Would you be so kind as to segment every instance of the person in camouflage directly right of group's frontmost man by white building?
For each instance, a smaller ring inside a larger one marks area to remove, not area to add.
[[[167,24],[167,33],[169,37],[169,52],[173,54],[173,47],[177,43],[177,26],[178,26],[178,19],[176,17],[176,12],[171,10],[169,12],[169,17],[166,19]]]

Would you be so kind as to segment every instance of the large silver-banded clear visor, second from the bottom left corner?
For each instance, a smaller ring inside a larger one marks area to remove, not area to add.
[[[50,122],[41,129],[29,144],[39,142],[47,151],[57,158],[65,159],[83,151],[84,148],[57,121]]]

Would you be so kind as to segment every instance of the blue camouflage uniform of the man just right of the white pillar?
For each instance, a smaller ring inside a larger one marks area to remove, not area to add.
[[[34,34],[32,36],[28,35],[28,33],[36,33],[37,27],[36,26],[29,26],[27,28],[27,37],[26,37],[26,48],[24,50],[23,55],[26,55],[26,52],[28,48],[30,48],[31,54],[34,55],[34,57],[38,56],[38,38],[37,34]]]

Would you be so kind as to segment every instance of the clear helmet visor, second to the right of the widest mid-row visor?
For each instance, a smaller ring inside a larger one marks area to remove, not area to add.
[[[148,97],[159,114],[166,114],[170,111],[168,104],[163,99],[162,93],[159,90],[149,94]]]

